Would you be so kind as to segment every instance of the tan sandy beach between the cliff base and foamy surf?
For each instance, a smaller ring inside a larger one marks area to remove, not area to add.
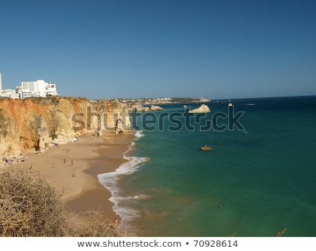
[[[22,156],[27,156],[27,161],[15,161],[9,166],[40,170],[48,182],[62,192],[72,212],[98,210],[108,219],[119,219],[112,210],[113,203],[109,201],[110,191],[98,182],[97,175],[112,172],[126,162],[123,154],[133,139],[132,134],[115,135],[109,132],[102,137],[87,134],[76,142],[51,147],[41,154],[35,151],[22,153]]]

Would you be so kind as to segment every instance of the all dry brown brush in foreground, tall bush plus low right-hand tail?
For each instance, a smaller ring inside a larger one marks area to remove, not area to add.
[[[0,236],[129,236],[100,212],[84,221],[39,170],[0,170]]]

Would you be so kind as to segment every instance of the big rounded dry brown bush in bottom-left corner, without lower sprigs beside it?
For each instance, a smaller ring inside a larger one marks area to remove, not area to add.
[[[60,195],[40,172],[11,168],[0,174],[1,236],[63,236],[67,218]]]

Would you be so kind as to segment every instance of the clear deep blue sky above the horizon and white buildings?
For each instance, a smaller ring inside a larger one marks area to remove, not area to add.
[[[229,99],[316,95],[316,1],[5,1],[3,88]]]

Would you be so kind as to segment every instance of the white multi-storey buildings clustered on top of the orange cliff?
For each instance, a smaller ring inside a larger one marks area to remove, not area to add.
[[[23,99],[26,97],[46,97],[58,96],[56,84],[53,82],[46,83],[44,80],[23,81],[15,90],[2,90],[2,81],[0,73],[0,97],[11,97],[13,99]]]

